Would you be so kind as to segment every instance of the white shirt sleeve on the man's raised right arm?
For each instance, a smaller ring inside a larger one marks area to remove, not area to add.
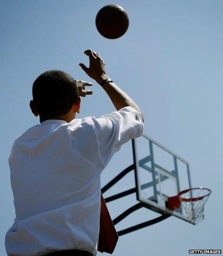
[[[143,135],[144,131],[142,115],[130,106],[94,118],[93,122],[103,167],[124,143]]]

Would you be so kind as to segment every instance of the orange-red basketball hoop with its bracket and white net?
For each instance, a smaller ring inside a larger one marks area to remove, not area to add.
[[[204,219],[204,205],[208,201],[211,189],[195,188],[186,189],[178,193],[177,196],[168,198],[168,208],[175,210],[183,205],[188,221],[198,224]]]

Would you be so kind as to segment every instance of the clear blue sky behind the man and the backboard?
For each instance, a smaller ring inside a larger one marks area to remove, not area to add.
[[[129,28],[117,40],[103,38],[95,17],[106,4],[129,14]],[[100,86],[78,66],[87,49],[105,60],[111,79],[144,113],[145,133],[190,162],[192,184],[212,189],[206,218],[197,226],[175,217],[120,237],[114,256],[186,256],[189,249],[222,247],[223,1],[221,0],[7,0],[0,9],[0,255],[15,212],[8,157],[12,143],[38,123],[29,109],[33,81],[61,69],[93,82],[78,118],[114,110]],[[122,148],[101,176],[102,185],[132,161]],[[127,150],[127,151],[125,151]],[[125,159],[123,161],[123,159]],[[117,184],[122,190],[133,176]],[[131,201],[132,200],[132,201]],[[136,198],[109,204],[112,217]],[[157,214],[142,209],[119,229]],[[99,253],[100,255],[100,253]]]

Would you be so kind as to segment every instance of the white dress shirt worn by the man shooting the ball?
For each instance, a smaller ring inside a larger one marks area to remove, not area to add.
[[[20,135],[9,157],[16,217],[5,237],[7,255],[96,255],[100,173],[143,129],[141,114],[125,107],[100,118],[47,120]]]

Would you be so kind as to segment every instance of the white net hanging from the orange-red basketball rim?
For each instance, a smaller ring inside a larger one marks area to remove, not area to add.
[[[204,206],[210,194],[211,190],[198,188],[191,189],[179,197],[189,222],[198,224],[204,219]]]

